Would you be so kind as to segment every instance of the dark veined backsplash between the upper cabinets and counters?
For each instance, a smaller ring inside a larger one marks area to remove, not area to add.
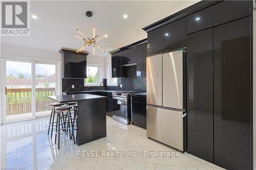
[[[128,77],[117,78],[118,86],[107,86],[107,90],[136,90],[146,91],[146,77],[137,77],[136,65],[128,67]],[[120,84],[123,87],[120,87]],[[72,88],[75,85],[75,88]],[[83,79],[62,79],[62,92],[70,91],[86,91],[86,90],[102,90],[102,86],[84,86]]]

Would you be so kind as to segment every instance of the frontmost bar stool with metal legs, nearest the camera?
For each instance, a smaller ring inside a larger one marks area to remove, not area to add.
[[[64,133],[62,134],[70,134],[70,139],[72,139],[72,136],[74,136],[74,130],[73,130],[73,123],[72,123],[72,117],[71,117],[71,112],[70,109],[72,107],[71,106],[62,106],[62,107],[56,107],[55,110],[58,111],[57,112],[57,121],[56,121],[56,131],[55,131],[55,142],[57,140],[57,135],[58,135],[58,149],[59,149],[59,138],[60,138],[60,130],[65,130]],[[63,114],[63,112],[66,112],[66,114]],[[68,118],[67,123],[68,123],[68,127],[66,128],[66,122],[65,119]],[[62,121],[61,121],[62,119]],[[61,123],[61,124],[60,124]],[[64,128],[60,129],[60,125],[64,125]],[[74,144],[75,144],[75,137],[73,138],[74,140]]]

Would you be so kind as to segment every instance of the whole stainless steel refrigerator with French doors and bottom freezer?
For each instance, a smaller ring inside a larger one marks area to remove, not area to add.
[[[148,56],[147,136],[185,150],[185,51]]]

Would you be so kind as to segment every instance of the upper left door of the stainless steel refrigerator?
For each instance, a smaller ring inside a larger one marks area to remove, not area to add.
[[[162,106],[162,55],[146,59],[146,103]]]

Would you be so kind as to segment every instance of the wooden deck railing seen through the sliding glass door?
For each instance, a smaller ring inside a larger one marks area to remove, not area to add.
[[[36,88],[36,112],[51,110],[50,95],[55,95],[55,88]],[[31,101],[31,88],[7,88],[7,115],[31,113]]]

